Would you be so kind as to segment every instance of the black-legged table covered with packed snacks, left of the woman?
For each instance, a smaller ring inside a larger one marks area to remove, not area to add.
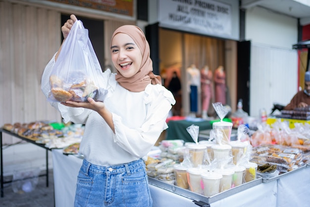
[[[31,122],[31,123],[14,123],[4,124],[0,128],[0,192],[4,196],[3,188],[3,143],[2,134],[19,138],[28,143],[32,143],[46,150],[46,186],[49,187],[49,159],[48,152],[54,148],[66,147],[70,144],[80,142],[84,126],[70,125],[65,127],[63,123]]]

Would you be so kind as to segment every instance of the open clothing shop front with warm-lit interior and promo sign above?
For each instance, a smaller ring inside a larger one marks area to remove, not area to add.
[[[150,7],[157,10],[157,13],[150,13],[151,24],[146,27],[151,48],[158,45],[158,50],[151,53],[151,58],[155,68],[158,67],[158,73],[164,78],[166,87],[174,71],[182,86],[177,96],[181,106],[176,104],[173,115],[201,117],[203,111],[207,111],[209,116],[213,116],[214,110],[209,106],[216,101],[235,109],[238,1],[158,0],[149,3]],[[215,92],[216,69],[220,66],[224,70],[226,82],[224,89]],[[206,68],[212,75],[210,89],[206,94],[207,106],[203,104],[206,98],[202,93],[206,92],[202,90],[200,81],[201,71]],[[195,77],[193,72],[197,74]],[[220,99],[221,96],[224,101]]]

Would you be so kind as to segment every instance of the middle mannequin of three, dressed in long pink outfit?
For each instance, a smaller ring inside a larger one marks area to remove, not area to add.
[[[200,70],[201,97],[202,97],[202,117],[207,119],[207,111],[212,97],[212,71],[208,66]]]

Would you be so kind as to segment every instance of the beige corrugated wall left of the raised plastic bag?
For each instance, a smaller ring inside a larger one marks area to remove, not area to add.
[[[0,1],[0,126],[61,121],[41,91],[41,76],[61,43],[60,12]],[[16,142],[3,135],[3,144]]]

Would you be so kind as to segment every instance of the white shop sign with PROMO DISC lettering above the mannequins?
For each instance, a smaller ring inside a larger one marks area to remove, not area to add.
[[[231,5],[213,0],[159,0],[159,26],[211,36],[232,35]]]

